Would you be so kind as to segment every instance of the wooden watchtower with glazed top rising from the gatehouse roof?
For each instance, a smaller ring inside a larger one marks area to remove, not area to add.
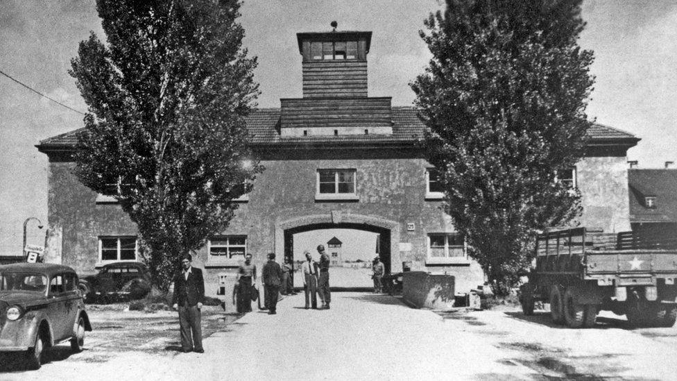
[[[297,33],[303,98],[280,99],[281,137],[392,135],[391,97],[367,94],[371,32]]]

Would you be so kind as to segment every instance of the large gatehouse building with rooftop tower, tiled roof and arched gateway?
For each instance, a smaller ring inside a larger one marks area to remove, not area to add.
[[[238,200],[228,229],[195,258],[205,269],[207,294],[230,294],[246,253],[259,264],[268,252],[291,257],[295,234],[328,228],[377,233],[389,273],[447,273],[460,292],[481,285],[479,264],[441,209],[435,171],[417,144],[424,126],[416,110],[368,96],[371,32],[297,37],[303,96],[280,99],[280,108],[258,109],[247,119],[250,144],[266,169]],[[47,260],[80,273],[141,260],[135,223],[71,173],[77,133],[37,145],[49,157]],[[589,134],[585,158],[560,180],[581,189],[583,226],[629,230],[626,151],[639,139],[600,125]]]

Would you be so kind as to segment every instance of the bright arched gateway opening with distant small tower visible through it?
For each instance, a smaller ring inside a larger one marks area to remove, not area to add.
[[[309,251],[318,261],[318,245],[329,255],[329,285],[334,290],[372,291],[372,261],[380,257],[391,269],[391,232],[363,223],[314,223],[284,230],[284,257],[294,267],[293,285],[303,286],[300,269]]]

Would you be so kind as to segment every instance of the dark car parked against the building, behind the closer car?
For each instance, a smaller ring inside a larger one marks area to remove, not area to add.
[[[83,277],[78,287],[92,299],[139,299],[151,291],[151,276],[142,262],[114,262],[103,265],[96,275]]]

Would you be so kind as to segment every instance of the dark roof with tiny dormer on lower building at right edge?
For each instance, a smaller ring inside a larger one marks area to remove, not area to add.
[[[629,169],[631,222],[677,222],[677,169]],[[647,196],[655,208],[646,208]]]

